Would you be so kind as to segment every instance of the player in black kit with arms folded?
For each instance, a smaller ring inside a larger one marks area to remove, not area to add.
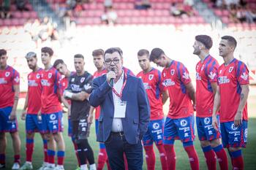
[[[64,91],[64,97],[71,100],[72,135],[78,144],[78,155],[80,158],[80,169],[86,170],[86,160],[90,164],[90,170],[96,170],[94,163],[94,152],[88,142],[89,123],[88,116],[90,104],[88,101],[91,93],[92,76],[84,70],[84,57],[77,54],[74,56],[76,74],[69,77],[68,88]]]

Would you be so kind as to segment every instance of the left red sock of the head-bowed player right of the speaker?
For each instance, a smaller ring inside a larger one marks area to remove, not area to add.
[[[176,169],[176,153],[173,144],[164,144],[169,170]]]

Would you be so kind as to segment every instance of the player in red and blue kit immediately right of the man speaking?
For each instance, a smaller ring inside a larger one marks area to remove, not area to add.
[[[148,123],[148,131],[143,136],[143,147],[146,152],[146,163],[148,170],[155,169],[156,156],[154,153],[153,142],[159,150],[162,169],[167,170],[167,156],[163,146],[163,128],[164,128],[164,112],[162,105],[167,101],[167,88],[162,85],[161,72],[154,69],[149,61],[148,50],[138,51],[138,62],[143,70],[137,74],[143,80],[144,88],[148,94],[151,116]]]

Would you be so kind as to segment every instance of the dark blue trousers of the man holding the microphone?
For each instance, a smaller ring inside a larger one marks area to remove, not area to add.
[[[129,170],[142,170],[143,147],[141,142],[129,144],[123,133],[111,132],[105,142],[108,160],[112,170],[124,170],[124,153]]]

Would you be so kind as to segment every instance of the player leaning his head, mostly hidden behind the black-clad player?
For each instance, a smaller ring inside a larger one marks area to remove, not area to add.
[[[71,120],[70,120],[70,105],[71,105],[71,101],[67,100],[66,98],[64,98],[63,96],[63,92],[64,90],[67,88],[68,83],[69,83],[69,77],[72,74],[75,74],[75,72],[70,72],[69,69],[67,69],[67,65],[66,63],[64,63],[63,60],[58,59],[56,61],[54,61],[53,63],[53,67],[55,69],[58,70],[58,72],[63,75],[64,77],[61,77],[60,80],[60,85],[61,85],[61,102],[64,104],[64,107],[67,108],[67,115],[68,115],[68,136],[71,137],[72,139],[72,143],[74,145],[75,148],[75,155],[77,156],[78,159],[78,169],[80,167],[80,160],[78,157],[78,145],[75,143],[74,138],[72,137],[72,125],[71,125]]]

